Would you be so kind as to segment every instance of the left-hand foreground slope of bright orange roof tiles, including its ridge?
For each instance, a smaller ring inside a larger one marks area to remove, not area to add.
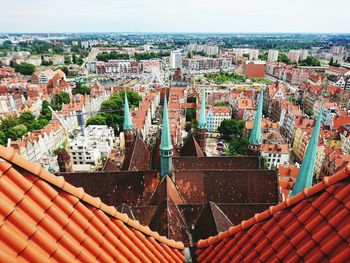
[[[183,262],[183,244],[152,232],[0,146],[0,261]]]

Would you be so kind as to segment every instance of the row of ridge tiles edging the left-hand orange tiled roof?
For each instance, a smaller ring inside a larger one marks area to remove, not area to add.
[[[121,220],[125,224],[137,229],[145,235],[151,236],[160,243],[168,245],[169,247],[173,247],[176,249],[183,249],[184,244],[180,241],[175,241],[166,238],[165,236],[160,236],[158,232],[152,231],[148,226],[143,226],[137,220],[132,220],[128,217],[127,214],[120,213],[114,206],[108,206],[101,201],[99,197],[93,197],[87,193],[85,193],[82,187],[75,187],[70,183],[66,182],[63,176],[56,176],[51,174],[50,172],[44,170],[40,164],[32,163],[29,160],[25,160],[20,157],[15,149],[12,147],[4,147],[0,145],[0,157],[14,163],[15,165],[31,172],[32,174],[40,177],[42,180],[52,184],[63,191],[77,197],[79,200],[88,203],[91,206],[96,207],[97,209],[102,210],[109,216],[112,216],[116,219]]]

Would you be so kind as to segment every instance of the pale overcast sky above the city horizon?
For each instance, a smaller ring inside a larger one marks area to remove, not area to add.
[[[350,0],[0,0],[0,32],[350,32]]]

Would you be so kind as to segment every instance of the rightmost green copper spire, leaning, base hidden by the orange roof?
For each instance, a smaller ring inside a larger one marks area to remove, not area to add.
[[[304,160],[301,164],[297,180],[295,182],[293,190],[290,192],[290,196],[294,196],[306,187],[312,185],[312,178],[314,175],[314,168],[317,155],[318,137],[320,135],[321,119],[323,112],[323,103],[320,107],[320,111],[317,116],[314,130],[312,131],[311,139],[307,145],[306,152],[304,154]]]

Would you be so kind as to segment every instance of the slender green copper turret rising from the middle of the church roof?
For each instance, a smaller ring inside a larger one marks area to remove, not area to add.
[[[172,172],[172,157],[173,157],[173,144],[170,136],[170,125],[168,117],[168,103],[166,96],[164,96],[163,107],[163,121],[162,121],[162,134],[160,140],[160,176],[163,178],[165,175],[171,176]]]

